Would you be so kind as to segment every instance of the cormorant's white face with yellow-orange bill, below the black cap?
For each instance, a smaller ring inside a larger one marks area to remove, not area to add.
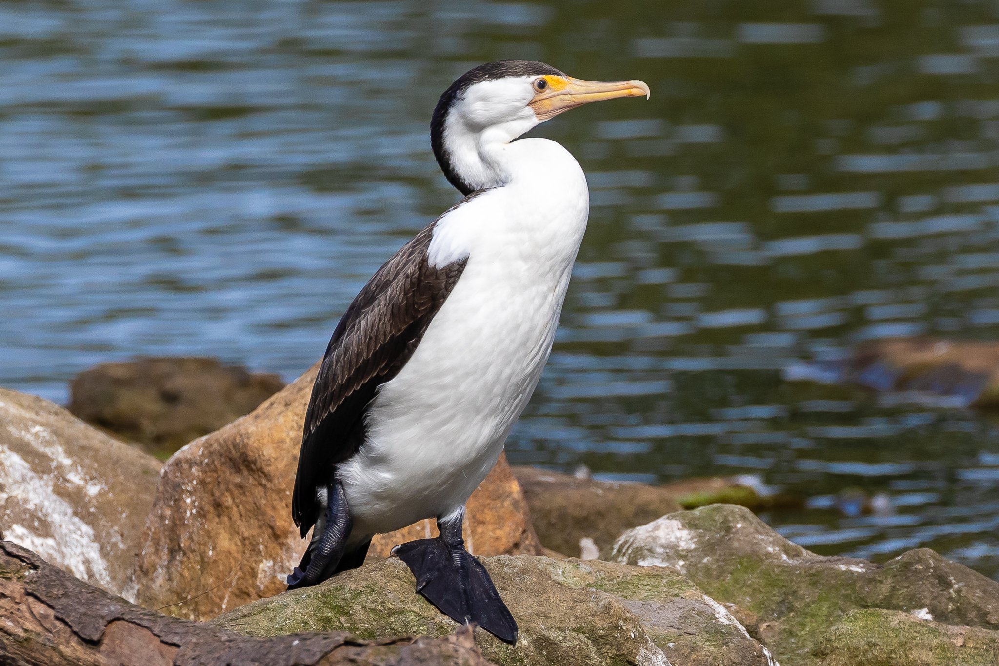
[[[474,134],[511,141],[538,123],[575,107],[617,97],[648,97],[641,81],[582,81],[566,76],[517,76],[469,87],[449,120]],[[454,127],[454,126],[453,126]]]

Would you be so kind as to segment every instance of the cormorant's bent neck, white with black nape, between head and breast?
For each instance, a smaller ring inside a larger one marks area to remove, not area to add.
[[[501,187],[511,178],[509,143],[535,124],[518,120],[480,129],[461,118],[449,118],[442,128],[440,148],[435,146],[438,163],[464,195]]]

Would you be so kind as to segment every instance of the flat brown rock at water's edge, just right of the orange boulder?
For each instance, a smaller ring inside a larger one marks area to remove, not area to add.
[[[608,483],[569,474],[513,467],[545,548],[580,554],[579,540],[600,550],[620,534],[681,507],[671,493],[644,483]]]

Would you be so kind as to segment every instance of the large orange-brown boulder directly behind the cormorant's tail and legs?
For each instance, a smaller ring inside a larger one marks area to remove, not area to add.
[[[291,492],[318,368],[167,461],[130,598],[202,620],[285,590],[307,544],[292,522]],[[534,547],[530,518],[517,510],[518,486],[503,465],[469,500],[469,538],[478,553]]]

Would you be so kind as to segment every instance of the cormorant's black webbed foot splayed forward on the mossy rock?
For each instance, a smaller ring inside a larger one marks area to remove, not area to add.
[[[392,554],[410,567],[423,594],[456,622],[475,622],[507,643],[516,642],[516,622],[486,567],[465,549],[462,514],[438,518],[441,535],[396,546]]]

